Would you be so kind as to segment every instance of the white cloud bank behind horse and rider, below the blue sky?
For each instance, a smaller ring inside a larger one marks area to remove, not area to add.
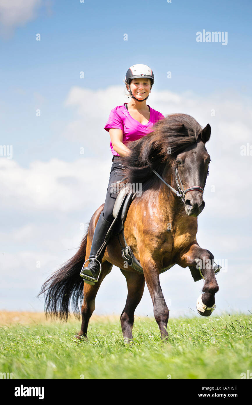
[[[84,230],[80,230],[80,222],[88,222],[93,212],[104,203],[112,156],[109,134],[103,128],[110,110],[124,101],[129,99],[121,86],[97,91],[73,87],[64,106],[65,109],[72,108],[77,119],[68,123],[64,136],[68,139],[66,145],[69,142],[83,145],[84,155],[78,155],[72,162],[58,158],[43,162],[36,160],[28,168],[22,167],[14,159],[0,158],[0,209],[11,218],[15,216],[15,227],[7,224],[6,232],[2,226],[0,233],[2,249],[4,247],[2,252],[6,252],[0,257],[1,269],[5,286],[10,288],[8,296],[21,297],[24,309],[25,302],[33,299],[45,277],[75,253],[84,233]],[[174,94],[167,91],[153,91],[148,104],[164,115],[188,113],[202,126],[210,123],[212,135],[206,147],[212,162],[204,193],[206,205],[199,217],[198,240],[216,258],[229,258],[232,254],[238,257],[241,248],[247,250],[249,255],[252,157],[241,156],[240,145],[250,140],[251,104],[237,97],[227,100],[221,94],[199,98],[189,92]],[[214,117],[211,116],[212,109],[215,110]],[[94,157],[89,156],[90,151],[93,151]],[[211,191],[212,185],[214,192]],[[81,220],[80,211],[83,211]],[[19,215],[22,223],[19,222]],[[216,225],[216,235],[208,232],[210,225]],[[37,260],[41,260],[39,271],[36,270]],[[238,308],[242,294],[246,292],[246,296],[250,296],[248,280],[251,269],[248,262],[248,256],[243,257],[244,269],[240,270],[229,260],[228,273],[218,276],[218,301],[222,309],[227,307],[227,302],[233,304],[233,296],[236,297],[234,305]],[[15,271],[15,277],[13,269],[19,269]],[[238,271],[243,272],[243,276],[239,276],[239,292],[236,283]],[[30,293],[28,296],[22,295],[19,286],[32,288],[35,279],[36,291],[33,290],[32,297]],[[172,314],[178,308],[188,310],[193,305],[195,309],[201,284],[194,284],[188,269],[179,267],[161,276],[165,296],[172,299]],[[114,291],[119,292],[118,296]],[[104,309],[108,294],[112,298]],[[98,312],[121,312],[127,293],[119,269],[113,269],[113,275],[106,277],[98,295]],[[30,309],[29,305],[27,309]],[[136,312],[144,313],[147,307],[146,313],[152,313],[146,288]]]

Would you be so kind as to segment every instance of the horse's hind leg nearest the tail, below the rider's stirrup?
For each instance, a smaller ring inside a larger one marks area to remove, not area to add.
[[[89,319],[91,318],[91,315],[93,311],[95,310],[95,297],[96,294],[100,288],[100,285],[106,277],[108,273],[110,273],[112,269],[112,264],[105,261],[102,263],[102,271],[100,274],[100,277],[95,283],[94,286],[91,286],[90,284],[84,283],[84,290],[83,290],[83,304],[81,307],[81,316],[82,316],[82,323],[81,323],[81,328],[80,332],[78,335],[76,335],[77,339],[82,339],[82,337],[87,338],[87,327],[89,323]]]

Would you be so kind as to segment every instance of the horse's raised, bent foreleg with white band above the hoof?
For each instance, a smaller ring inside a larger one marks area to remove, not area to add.
[[[195,261],[196,259],[196,261]],[[214,256],[209,250],[201,249],[199,245],[194,244],[188,252],[182,255],[181,262],[183,267],[193,266],[201,269],[201,273],[205,279],[202,288],[202,295],[197,300],[197,310],[200,315],[210,316],[215,304],[215,294],[219,290],[214,273]],[[202,305],[203,304],[203,305]],[[206,308],[205,308],[206,307]],[[209,309],[207,309],[209,308]]]

